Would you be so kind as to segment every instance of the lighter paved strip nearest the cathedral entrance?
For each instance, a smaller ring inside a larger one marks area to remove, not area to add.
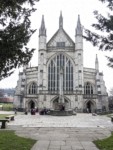
[[[111,127],[110,118],[79,113],[76,116],[17,115],[9,125],[23,127]]]

